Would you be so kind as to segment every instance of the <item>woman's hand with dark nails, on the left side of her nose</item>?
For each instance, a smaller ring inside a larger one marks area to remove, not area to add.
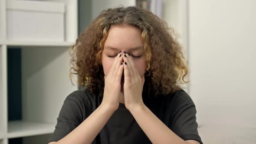
[[[121,76],[124,69],[122,64],[122,54],[118,53],[115,60],[108,72],[107,76],[104,76],[105,87],[102,99],[102,104],[108,106],[112,110],[116,111],[119,106],[119,95],[121,91]]]

